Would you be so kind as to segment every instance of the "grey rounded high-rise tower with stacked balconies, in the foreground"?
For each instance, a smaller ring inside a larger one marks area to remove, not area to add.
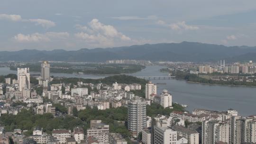
[[[137,136],[143,128],[146,128],[146,102],[135,97],[128,102],[128,130]]]

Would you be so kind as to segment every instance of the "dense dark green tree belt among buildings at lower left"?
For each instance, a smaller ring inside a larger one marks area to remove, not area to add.
[[[67,112],[67,109],[56,104],[58,110]],[[2,114],[0,124],[5,126],[5,131],[14,129],[28,130],[28,134],[36,127],[42,127],[43,131],[51,134],[53,129],[65,128],[73,130],[76,126],[82,126],[85,130],[90,127],[90,121],[101,119],[102,122],[110,125],[110,132],[121,133],[129,136],[130,133],[125,126],[127,121],[127,108],[110,108],[98,110],[95,108],[86,108],[77,112],[77,118],[69,115],[64,117],[53,117],[52,114],[35,114],[32,108],[22,109],[18,115]]]

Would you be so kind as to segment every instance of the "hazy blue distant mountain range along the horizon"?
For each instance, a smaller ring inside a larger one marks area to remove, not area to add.
[[[114,59],[150,61],[227,62],[256,61],[256,47],[224,46],[195,42],[132,45],[114,48],[83,48],[66,50],[20,50],[1,51],[0,61],[64,61],[64,62],[105,62]]]

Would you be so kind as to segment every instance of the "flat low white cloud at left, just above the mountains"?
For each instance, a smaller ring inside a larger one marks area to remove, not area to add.
[[[17,42],[49,42],[53,39],[66,39],[69,37],[67,32],[47,32],[45,34],[34,33],[31,35],[18,34],[13,37]]]

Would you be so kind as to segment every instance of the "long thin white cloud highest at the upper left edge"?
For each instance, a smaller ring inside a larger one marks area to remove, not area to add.
[[[23,19],[20,15],[8,15],[8,14],[0,14],[0,19],[8,19],[11,21],[22,21],[22,22],[32,22],[36,23],[36,25],[40,25],[42,27],[55,27],[55,22],[47,20],[47,19]]]

